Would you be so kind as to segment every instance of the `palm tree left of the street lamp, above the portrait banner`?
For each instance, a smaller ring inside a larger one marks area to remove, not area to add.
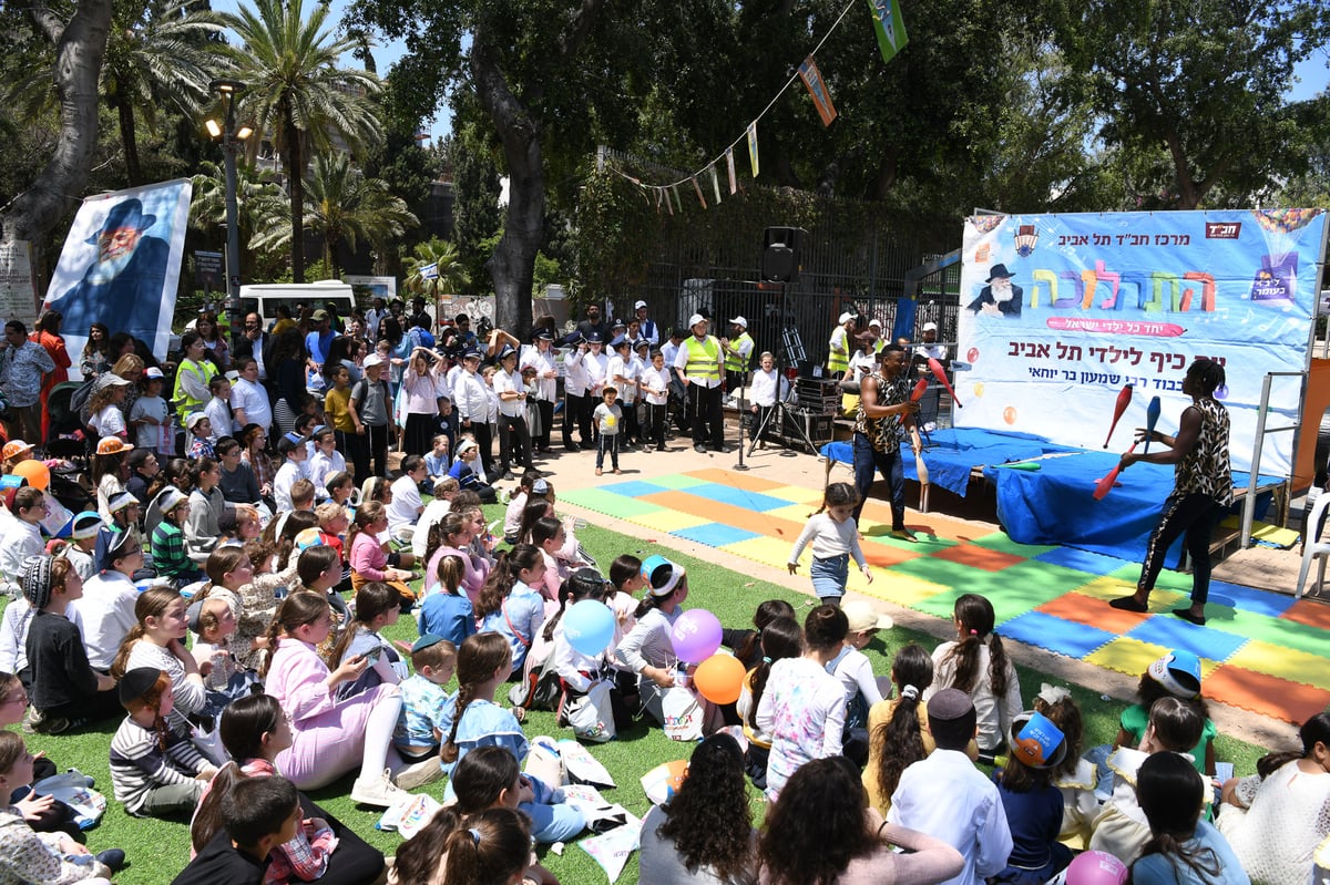
[[[190,9],[196,3],[200,8]],[[145,183],[136,112],[149,129],[166,104],[197,117],[225,60],[222,45],[210,41],[222,29],[221,16],[200,0],[116,0],[101,92],[116,109],[130,186]]]

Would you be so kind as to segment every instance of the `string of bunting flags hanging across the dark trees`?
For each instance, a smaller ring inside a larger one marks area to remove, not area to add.
[[[762,120],[762,117],[765,117],[771,110],[771,108],[775,106],[775,102],[779,101],[781,96],[783,96],[790,89],[790,86],[794,85],[797,80],[801,80],[803,85],[807,88],[809,96],[813,98],[813,104],[818,110],[818,116],[821,117],[823,126],[830,126],[831,121],[837,118],[837,109],[835,105],[831,102],[831,92],[827,88],[826,81],[822,78],[822,73],[818,70],[817,62],[814,61],[814,56],[822,49],[822,47],[831,37],[831,35],[835,33],[835,31],[841,27],[841,23],[845,21],[846,15],[849,15],[850,9],[854,8],[854,5],[859,0],[850,0],[846,4],[845,9],[841,11],[841,15],[837,16],[837,20],[831,24],[827,32],[818,41],[818,45],[813,48],[813,52],[805,56],[798,69],[790,76],[789,80],[785,81],[785,85],[777,90],[775,96],[771,98],[771,101],[767,102],[766,108],[763,108],[762,112],[757,114],[757,117],[754,117],[743,128],[743,134],[735,138],[733,142],[730,142],[725,148],[725,150],[722,150],[720,154],[717,154],[706,163],[704,163],[697,171],[693,171],[677,181],[665,185],[645,185],[641,181],[628,175],[626,173],[614,169],[612,163],[606,163],[606,167],[613,170],[616,174],[628,178],[629,181],[641,187],[654,189],[657,191],[657,201],[656,201],[657,211],[660,210],[660,194],[664,193],[665,206],[666,209],[669,209],[670,215],[674,214],[676,203],[678,205],[678,210],[681,213],[684,211],[684,203],[680,199],[678,186],[688,182],[692,182],[693,190],[697,193],[697,199],[701,203],[702,209],[708,207],[706,198],[702,195],[702,187],[697,181],[697,177],[705,175],[708,170],[710,170],[712,174],[713,197],[716,199],[716,203],[720,205],[721,187],[716,171],[716,163],[718,163],[722,158],[725,159],[725,169],[729,175],[730,195],[737,194],[738,178],[734,173],[734,149],[741,142],[747,144],[749,165],[751,166],[753,178],[757,178],[761,167],[758,162],[757,124],[759,120]],[[866,0],[866,1],[872,15],[872,27],[878,36],[878,45],[882,52],[882,58],[883,61],[890,61],[906,45],[906,28],[904,28],[904,19],[900,15],[900,0]],[[673,194],[674,197],[673,201],[670,201],[670,194]]]

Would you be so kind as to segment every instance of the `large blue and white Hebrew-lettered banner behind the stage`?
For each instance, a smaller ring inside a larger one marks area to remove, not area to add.
[[[966,222],[956,424],[1125,450],[1158,396],[1177,431],[1197,356],[1225,364],[1217,395],[1233,466],[1249,469],[1267,372],[1307,367],[1325,262],[1325,211],[982,215]],[[1267,427],[1295,424],[1302,385],[1274,379]],[[1293,472],[1293,433],[1266,436],[1261,472]]]

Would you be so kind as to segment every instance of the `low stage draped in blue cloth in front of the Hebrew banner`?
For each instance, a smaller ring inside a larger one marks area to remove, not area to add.
[[[835,462],[853,464],[850,442],[822,446],[827,474]],[[990,482],[998,500],[998,522],[1020,543],[1055,543],[1089,553],[1140,559],[1164,498],[1173,488],[1172,465],[1136,464],[1096,501],[1095,482],[1112,470],[1119,452],[1079,449],[1028,433],[938,429],[926,437],[923,460],[931,485],[966,497],[971,482]],[[914,453],[900,446],[906,478],[918,482]],[[880,481],[880,474],[878,480]],[[1249,474],[1233,472],[1234,492],[1246,492]],[[1256,516],[1262,518],[1282,477],[1261,476]],[[1238,497],[1241,501],[1241,497]],[[1233,512],[1240,509],[1234,502]],[[1176,563],[1181,541],[1169,563]]]

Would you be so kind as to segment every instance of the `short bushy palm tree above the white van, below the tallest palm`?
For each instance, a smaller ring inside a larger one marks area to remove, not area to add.
[[[323,235],[323,262],[334,276],[342,271],[338,246],[343,242],[355,250],[356,239],[367,239],[376,248],[420,223],[406,202],[394,197],[387,182],[366,178],[338,151],[319,154],[305,182],[306,230]],[[250,242],[251,248],[269,248],[290,242],[291,227],[273,225]]]

